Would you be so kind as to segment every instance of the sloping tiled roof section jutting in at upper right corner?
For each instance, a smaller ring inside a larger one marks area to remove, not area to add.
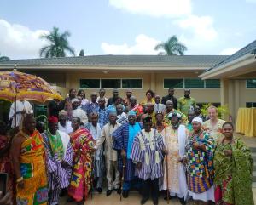
[[[235,54],[230,55],[225,60],[219,62],[217,65],[214,65],[213,67],[209,68],[207,71],[218,68],[221,65],[230,63],[231,61],[239,59],[246,54],[255,54],[255,52],[256,52],[256,40],[253,41],[252,43],[249,43],[246,47],[241,48]],[[207,72],[207,71],[205,71],[205,72]]]

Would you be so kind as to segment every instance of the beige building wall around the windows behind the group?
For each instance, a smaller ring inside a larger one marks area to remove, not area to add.
[[[141,101],[145,98],[145,93],[149,88],[154,89],[156,94],[164,96],[168,93],[167,89],[163,88],[164,78],[182,78],[182,77],[197,77],[198,73],[191,72],[175,72],[175,73],[153,73],[153,72],[137,72],[137,73],[86,73],[73,72],[67,73],[67,88],[79,89],[79,79],[81,78],[142,78],[143,89],[133,89],[133,94],[137,96],[137,100]],[[106,95],[112,96],[113,89],[106,89]],[[84,89],[86,98],[90,98],[91,92],[98,92],[98,89]],[[209,92],[210,91],[210,92]],[[125,96],[125,89],[119,89],[120,96]],[[183,96],[183,89],[176,89],[175,96]],[[197,102],[220,102],[220,89],[191,89],[191,96]]]

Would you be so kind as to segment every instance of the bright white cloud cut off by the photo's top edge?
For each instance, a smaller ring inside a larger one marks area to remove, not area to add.
[[[145,14],[154,17],[178,17],[190,14],[190,0],[109,0],[109,4],[131,14]]]

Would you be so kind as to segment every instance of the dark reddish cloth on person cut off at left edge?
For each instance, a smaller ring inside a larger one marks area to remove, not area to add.
[[[0,134],[0,173],[8,174],[7,191],[14,196],[14,169],[10,157],[11,140]]]

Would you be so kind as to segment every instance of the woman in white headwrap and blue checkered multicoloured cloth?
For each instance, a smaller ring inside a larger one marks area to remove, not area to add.
[[[189,196],[195,204],[207,205],[214,202],[213,188],[213,151],[214,141],[202,129],[202,119],[192,120],[193,131],[190,132],[186,145],[187,183]]]

